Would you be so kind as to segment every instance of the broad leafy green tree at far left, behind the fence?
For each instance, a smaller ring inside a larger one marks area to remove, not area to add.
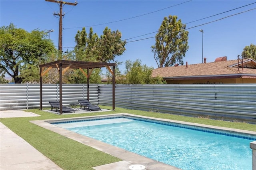
[[[54,50],[56,49],[48,39],[47,32],[33,30],[29,33],[16,28],[12,23],[0,28],[0,68],[4,69],[15,83],[22,83],[25,77],[20,74],[22,70],[31,68],[31,65],[38,67],[39,62],[44,62],[47,54]]]

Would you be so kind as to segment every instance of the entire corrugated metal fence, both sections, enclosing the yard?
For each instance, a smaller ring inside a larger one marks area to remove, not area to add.
[[[86,99],[87,84],[63,84],[63,104]],[[116,85],[116,107],[256,123],[256,85]],[[43,107],[59,99],[58,84],[43,85]],[[112,106],[112,85],[90,85],[90,102]],[[0,110],[40,106],[39,84],[0,84]]]

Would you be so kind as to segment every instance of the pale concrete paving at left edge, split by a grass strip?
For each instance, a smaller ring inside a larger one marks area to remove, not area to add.
[[[0,118],[40,116],[25,111],[0,111]],[[1,170],[62,170],[23,138],[0,123]]]

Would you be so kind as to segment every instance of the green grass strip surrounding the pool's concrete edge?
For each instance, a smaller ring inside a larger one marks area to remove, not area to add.
[[[112,107],[100,106],[103,109],[112,109]],[[83,117],[83,116],[94,116],[94,115],[106,115],[114,113],[130,113],[134,115],[143,115],[148,117],[157,117],[163,119],[172,119],[178,121],[186,121],[192,123],[201,123],[205,125],[214,125],[219,127],[229,127],[244,129],[250,131],[256,131],[256,125],[248,123],[236,123],[228,121],[210,120],[204,118],[185,117],[179,115],[171,115],[164,113],[154,113],[146,111],[138,111],[131,109],[116,108],[115,111],[107,112],[88,112],[83,114],[72,114],[72,115],[56,115],[40,109],[29,109],[27,110],[32,113],[41,115],[40,117],[22,117],[22,118],[1,118],[0,121],[34,146],[42,154],[50,158],[58,166],[64,170],[93,170],[92,167],[103,164],[109,164],[112,162],[120,161],[119,158],[76,142],[72,139],[66,138],[46,130],[42,127],[34,125],[29,121],[32,120],[43,120],[43,119],[58,119],[58,118],[69,118],[69,117]]]

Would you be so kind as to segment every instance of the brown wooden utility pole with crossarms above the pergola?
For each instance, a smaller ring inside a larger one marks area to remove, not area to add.
[[[76,1],[75,3],[71,3],[71,2],[64,2],[62,0],[45,0],[45,1],[48,1],[48,2],[55,2],[55,3],[58,3],[60,4],[60,13],[56,14],[54,12],[54,16],[55,15],[58,15],[60,17],[60,21],[59,21],[59,45],[58,45],[58,51],[59,53],[61,54],[62,53],[62,17],[64,17],[65,14],[62,14],[62,4],[67,4],[67,5],[74,5],[76,6],[76,4],[78,4]]]

